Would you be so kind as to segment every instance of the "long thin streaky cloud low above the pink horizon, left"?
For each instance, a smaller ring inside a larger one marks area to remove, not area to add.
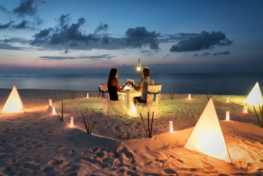
[[[105,58],[113,58],[116,56],[111,56],[110,54],[103,54],[98,56],[77,56],[77,57],[70,57],[70,56],[39,56],[39,60],[65,60],[65,59],[91,59],[91,60],[101,60]]]

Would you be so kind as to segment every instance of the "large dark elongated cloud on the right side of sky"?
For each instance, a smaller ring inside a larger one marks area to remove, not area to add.
[[[221,31],[212,31],[210,34],[209,32],[201,31],[200,34],[189,36],[187,39],[181,40],[176,45],[173,45],[170,48],[170,52],[212,49],[215,45],[230,45],[233,41],[234,40],[227,39],[225,34]]]

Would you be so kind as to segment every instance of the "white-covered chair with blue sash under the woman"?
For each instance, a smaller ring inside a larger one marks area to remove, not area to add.
[[[108,115],[122,115],[124,114],[124,104],[123,98],[118,101],[111,101],[109,96],[108,87],[106,84],[99,84],[100,87],[100,94],[102,97],[102,113],[105,116]],[[119,99],[122,96],[121,94],[118,95]],[[124,96],[123,96],[124,97]]]

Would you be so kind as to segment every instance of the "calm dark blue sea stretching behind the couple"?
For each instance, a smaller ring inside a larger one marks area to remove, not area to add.
[[[140,80],[139,74],[119,74],[120,85],[127,78]],[[256,82],[263,88],[263,74],[151,74],[155,84],[162,84],[162,93],[175,88],[179,94],[205,94],[204,89],[214,90],[218,95],[245,95]],[[0,88],[98,90],[99,83],[106,84],[108,74],[0,74]]]

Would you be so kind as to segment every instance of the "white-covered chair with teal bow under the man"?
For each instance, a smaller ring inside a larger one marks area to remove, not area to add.
[[[148,93],[147,93],[147,102],[146,103],[136,103],[136,115],[140,117],[141,115],[145,118],[152,117],[154,112],[154,118],[161,117],[161,87],[162,85],[148,85]],[[154,99],[155,97],[155,99]]]

